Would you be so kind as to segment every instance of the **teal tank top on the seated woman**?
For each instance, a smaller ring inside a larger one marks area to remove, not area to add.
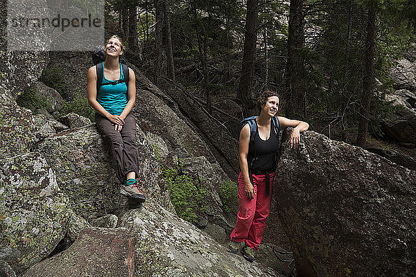
[[[124,80],[123,70],[120,65],[120,80]],[[103,62],[104,69],[104,62]],[[101,84],[106,84],[112,82],[105,78],[105,73],[103,72],[103,81]],[[103,108],[108,111],[110,114],[119,116],[127,105],[127,85],[125,82],[119,82],[118,84],[107,84],[101,86],[97,93],[97,102],[100,103]]]

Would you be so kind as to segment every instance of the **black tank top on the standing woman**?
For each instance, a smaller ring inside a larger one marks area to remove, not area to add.
[[[249,170],[267,170],[274,172],[276,168],[275,152],[279,149],[279,137],[275,127],[270,120],[270,136],[263,141],[259,135],[259,126],[256,122],[257,132],[254,135],[254,143],[248,147],[248,168]]]

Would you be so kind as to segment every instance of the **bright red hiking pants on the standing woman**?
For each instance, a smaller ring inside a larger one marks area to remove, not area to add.
[[[270,202],[272,200],[272,184],[275,173],[270,176],[270,195],[266,196],[266,175],[253,175],[253,186],[256,195],[250,199],[245,195],[244,179],[239,175],[239,202],[240,208],[237,215],[236,228],[231,233],[234,242],[245,242],[248,247],[256,251],[263,238],[266,218],[270,213]]]

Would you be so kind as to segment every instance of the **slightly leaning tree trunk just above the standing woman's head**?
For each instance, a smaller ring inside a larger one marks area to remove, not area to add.
[[[247,1],[247,14],[245,15],[245,33],[243,64],[241,66],[241,75],[237,98],[243,102],[243,114],[247,116],[244,105],[248,105],[251,97],[252,78],[254,75],[254,66],[256,60],[257,46],[257,19],[259,18],[259,0]]]

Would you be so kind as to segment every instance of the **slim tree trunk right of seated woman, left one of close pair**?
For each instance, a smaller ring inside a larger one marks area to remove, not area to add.
[[[155,84],[159,84],[159,76],[163,69],[163,5],[162,0],[155,0],[156,26],[155,26]]]

